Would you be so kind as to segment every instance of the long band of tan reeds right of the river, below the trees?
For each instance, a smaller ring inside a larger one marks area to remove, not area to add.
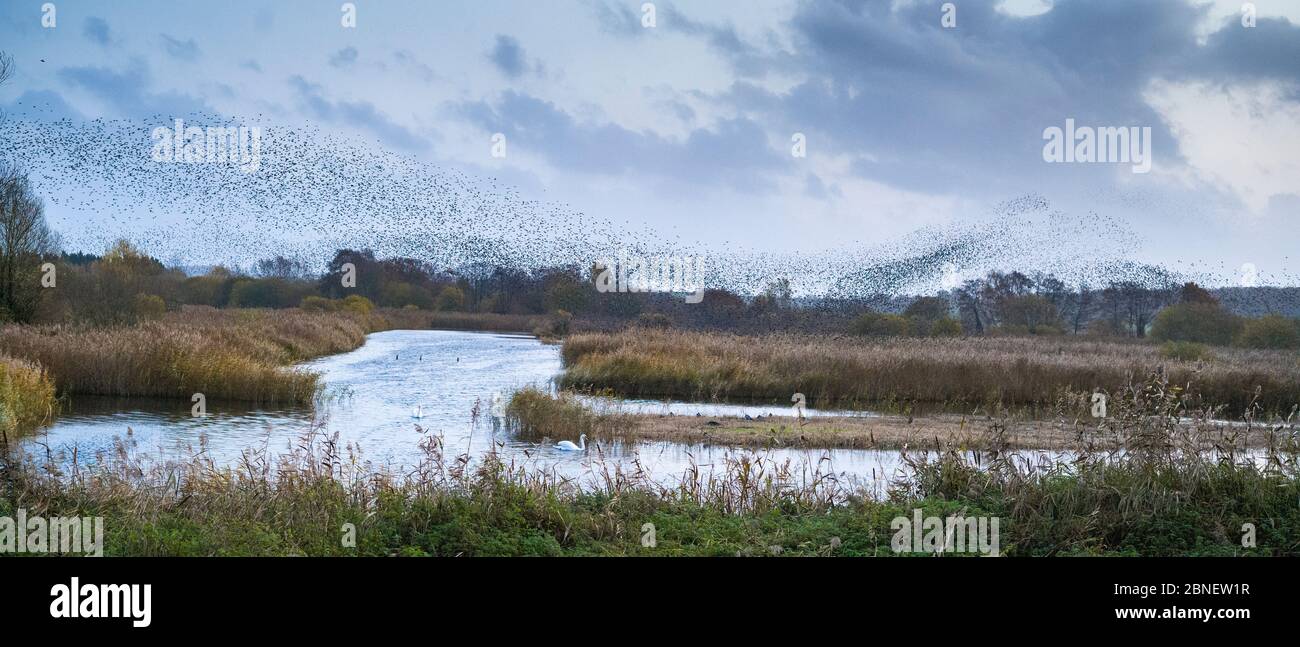
[[[564,339],[563,386],[624,396],[880,408],[1054,407],[1062,398],[1113,391],[1164,369],[1196,383],[1204,403],[1243,413],[1251,403],[1286,414],[1300,403],[1300,356],[1216,349],[1179,360],[1158,346],[1062,338],[861,339],[738,336],[633,329]],[[1260,390],[1256,399],[1256,390]]]

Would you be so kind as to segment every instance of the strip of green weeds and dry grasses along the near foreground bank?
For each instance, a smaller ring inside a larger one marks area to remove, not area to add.
[[[1070,457],[1030,460],[998,447],[994,424],[987,450],[906,452],[907,473],[884,492],[760,453],[664,482],[595,453],[571,478],[450,456],[419,429],[417,465],[377,468],[313,429],[283,453],[250,450],[230,466],[202,443],[155,461],[130,435],[90,466],[0,447],[0,516],[101,516],[107,555],[889,556],[892,520],[914,509],[997,517],[1006,555],[1300,555],[1292,435],[1251,414],[1244,430],[1213,425],[1213,411],[1188,408],[1161,378],[1127,388],[1093,430],[1121,448],[1082,440]],[[1249,433],[1273,442],[1247,456],[1236,434]],[[647,525],[655,542],[644,542]]]

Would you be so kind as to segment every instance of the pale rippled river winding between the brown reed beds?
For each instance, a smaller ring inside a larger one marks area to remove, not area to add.
[[[130,430],[135,451],[153,460],[185,459],[202,448],[217,464],[231,464],[248,448],[272,453],[287,450],[313,425],[339,434],[342,444],[393,469],[413,466],[421,457],[421,433],[441,434],[448,456],[481,457],[495,443],[498,455],[516,464],[590,477],[614,468],[640,468],[659,482],[672,482],[696,465],[720,470],[728,459],[762,457],[790,461],[796,472],[833,474],[841,481],[881,491],[901,477],[897,451],[884,450],[749,450],[670,442],[589,442],[586,452],[566,452],[552,443],[532,443],[494,431],[493,396],[508,399],[520,387],[551,388],[562,372],[559,347],[528,335],[446,330],[393,330],[368,335],[360,348],[303,364],[322,374],[325,391],[315,409],[247,408],[207,403],[207,416],[191,414],[185,400],[108,400],[77,398],[58,420],[26,439],[30,451],[56,460],[92,464],[112,451]],[[480,418],[473,421],[476,403]],[[788,414],[785,407],[623,401],[645,412],[694,416]],[[420,417],[413,417],[419,408]],[[845,414],[818,412],[809,416]],[[859,413],[870,414],[870,413]]]

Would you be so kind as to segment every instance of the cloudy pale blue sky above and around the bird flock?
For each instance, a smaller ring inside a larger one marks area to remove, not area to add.
[[[43,3],[0,8],[17,62],[0,140],[125,120],[147,144],[205,116],[309,127],[719,253],[984,231],[1005,246],[962,272],[1123,257],[1300,283],[1294,0],[1251,3],[1253,26],[1235,0],[49,4],[53,26]],[[1048,162],[1067,120],[1149,129],[1149,173]],[[74,246],[139,216],[84,182],[36,184]],[[1046,207],[1008,207],[1027,196]]]

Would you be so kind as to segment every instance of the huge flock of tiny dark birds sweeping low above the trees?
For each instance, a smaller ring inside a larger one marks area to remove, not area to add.
[[[161,114],[9,120],[0,156],[21,160],[40,196],[58,207],[52,226],[65,247],[94,252],[126,236],[178,266],[251,266],[272,255],[324,262],[347,247],[448,269],[484,264],[529,270],[586,266],[627,251],[706,257],[707,287],[751,294],[789,278],[797,294],[841,300],[933,290],[952,268],[974,278],[1022,262],[1066,281],[1091,277],[1092,285],[1115,273],[1152,278],[1123,265],[1131,252],[1123,246],[1135,239],[1123,222],[1071,217],[1039,196],[997,205],[978,222],[924,227],[893,242],[772,253],[682,242],[653,225],[615,226],[566,204],[528,199],[495,178],[311,125],[264,129],[255,173],[238,164],[155,161],[150,133],[170,123]],[[1096,240],[1112,248],[1098,248]]]

